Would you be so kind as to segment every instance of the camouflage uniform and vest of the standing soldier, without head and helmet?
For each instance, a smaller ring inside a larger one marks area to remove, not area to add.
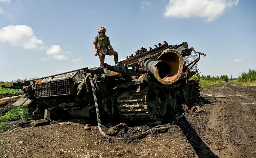
[[[97,35],[94,38],[93,44],[97,46],[97,52],[100,58],[100,66],[103,67],[105,61],[105,55],[113,55],[115,64],[118,62],[118,54],[116,51],[108,49],[108,45],[110,44],[109,38],[104,35]]]

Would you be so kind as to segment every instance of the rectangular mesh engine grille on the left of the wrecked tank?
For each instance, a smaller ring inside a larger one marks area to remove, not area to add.
[[[36,84],[36,98],[69,94],[69,80]]]

